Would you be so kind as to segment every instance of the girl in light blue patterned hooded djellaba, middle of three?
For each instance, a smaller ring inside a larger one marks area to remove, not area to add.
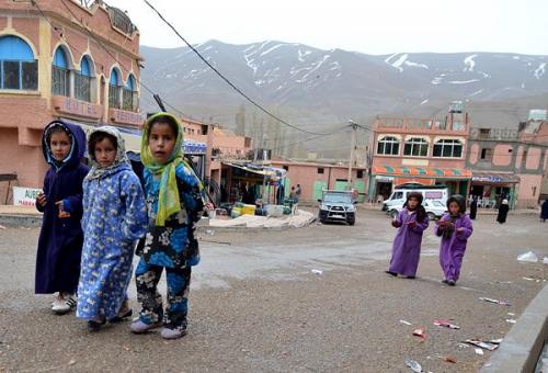
[[[132,280],[135,241],[147,231],[147,206],[119,132],[91,132],[92,169],[83,181],[84,233],[77,316],[90,331],[132,315],[126,291]]]

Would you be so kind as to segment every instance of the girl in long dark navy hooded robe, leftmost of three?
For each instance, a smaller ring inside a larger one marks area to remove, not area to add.
[[[44,128],[44,158],[50,165],[36,208],[44,213],[36,255],[36,294],[57,296],[52,310],[58,315],[76,306],[83,233],[82,181],[89,171],[81,163],[85,134],[76,124],[55,121]]]

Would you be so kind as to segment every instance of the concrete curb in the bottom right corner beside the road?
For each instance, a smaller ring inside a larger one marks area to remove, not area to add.
[[[535,372],[548,340],[548,286],[544,286],[525,308],[480,373]]]

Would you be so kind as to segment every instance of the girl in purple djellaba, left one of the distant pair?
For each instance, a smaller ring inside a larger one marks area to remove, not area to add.
[[[392,246],[392,259],[386,273],[414,279],[421,257],[422,234],[429,227],[429,217],[422,205],[422,194],[412,192],[403,204],[403,210],[392,221],[399,228]]]

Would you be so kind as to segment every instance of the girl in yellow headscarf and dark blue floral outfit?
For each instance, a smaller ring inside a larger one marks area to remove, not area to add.
[[[204,208],[203,189],[182,159],[183,133],[171,114],[158,113],[146,123],[141,142],[149,228],[135,273],[137,299],[142,306],[132,331],[142,334],[163,326],[161,336],[186,334],[191,268],[199,261],[195,223]],[[157,286],[163,270],[168,280],[165,313]]]

